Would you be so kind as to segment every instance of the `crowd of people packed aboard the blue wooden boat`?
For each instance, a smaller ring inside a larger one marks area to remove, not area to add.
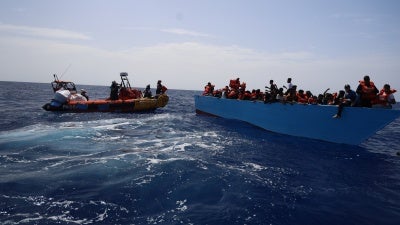
[[[344,85],[344,90],[329,92],[329,88],[323,93],[313,95],[311,91],[298,89],[297,85],[292,84],[292,79],[287,79],[287,86],[278,88],[273,80],[265,86],[265,92],[260,89],[246,90],[246,83],[240,82],[240,78],[230,80],[229,85],[222,89],[215,89],[215,85],[208,82],[204,87],[203,95],[220,98],[239,99],[239,100],[258,100],[264,103],[302,103],[302,104],[321,104],[337,105],[338,112],[334,118],[340,118],[344,107],[385,107],[391,108],[396,103],[393,93],[396,92],[389,84],[385,84],[379,91],[374,82],[368,75],[359,81],[359,85],[354,91],[349,84]]]

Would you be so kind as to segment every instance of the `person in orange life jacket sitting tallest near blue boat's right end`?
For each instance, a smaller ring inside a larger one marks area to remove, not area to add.
[[[370,81],[368,75],[364,76],[364,80],[360,81],[356,92],[360,98],[359,106],[369,108],[372,107],[372,103],[376,100],[376,95],[379,93],[374,82]]]

